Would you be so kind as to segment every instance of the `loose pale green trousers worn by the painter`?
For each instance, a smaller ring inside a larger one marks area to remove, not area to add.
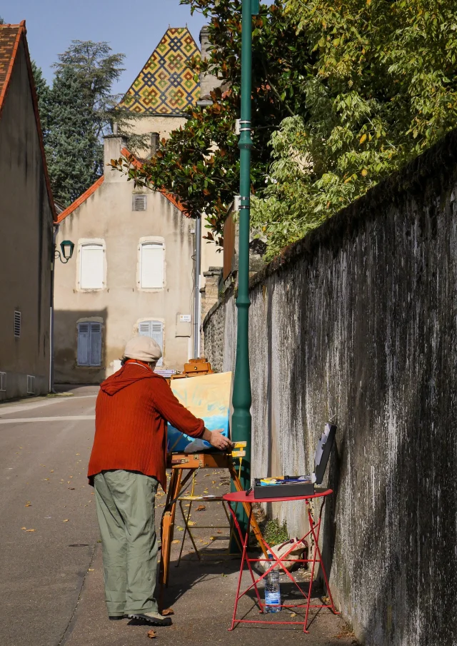
[[[102,471],[94,478],[110,617],[158,612],[154,598],[157,480],[132,471]]]

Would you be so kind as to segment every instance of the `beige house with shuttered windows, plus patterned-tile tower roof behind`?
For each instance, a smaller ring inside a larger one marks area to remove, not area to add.
[[[188,29],[166,31],[124,99],[141,116],[137,132],[166,137],[185,123],[184,108],[199,99],[186,62],[196,54]],[[161,370],[182,370],[194,356],[194,294],[203,286],[194,285],[195,222],[174,196],[135,188],[111,169],[111,159],[128,153],[122,136],[107,136],[104,176],[58,218],[57,245],[71,240],[75,251],[56,266],[56,383],[100,383],[136,334],[161,345]],[[219,256],[203,244],[202,274]]]

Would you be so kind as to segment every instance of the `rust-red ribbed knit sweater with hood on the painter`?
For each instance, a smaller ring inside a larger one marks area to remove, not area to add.
[[[179,403],[166,380],[133,359],[100,386],[89,481],[104,470],[154,476],[166,489],[166,422],[199,438],[204,421]]]

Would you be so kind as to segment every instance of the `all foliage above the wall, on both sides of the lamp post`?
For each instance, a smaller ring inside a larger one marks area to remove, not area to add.
[[[238,192],[241,1],[181,0],[209,17],[222,88],[131,178],[208,215]],[[253,18],[252,223],[268,256],[366,193],[457,123],[453,0],[286,0]],[[119,162],[118,162],[119,164]]]

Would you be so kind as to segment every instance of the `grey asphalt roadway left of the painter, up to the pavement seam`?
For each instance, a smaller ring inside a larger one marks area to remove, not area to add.
[[[97,390],[0,406],[2,645],[57,646],[74,614],[99,539],[86,479]]]

